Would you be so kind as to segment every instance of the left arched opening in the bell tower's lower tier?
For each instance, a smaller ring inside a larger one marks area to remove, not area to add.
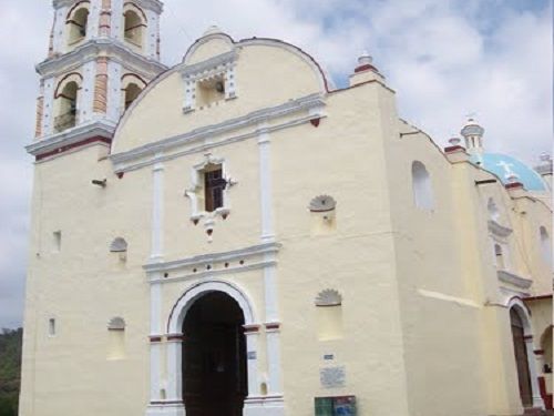
[[[54,94],[54,132],[74,128],[79,122],[79,91],[82,77],[79,73],[66,75]]]

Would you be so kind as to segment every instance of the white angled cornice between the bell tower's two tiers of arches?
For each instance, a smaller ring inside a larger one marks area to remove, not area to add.
[[[107,55],[124,65],[143,68],[152,75],[157,75],[167,69],[163,63],[132,51],[123,42],[105,38],[91,39],[71,52],[47,59],[39,63],[35,69],[42,77],[55,75],[73,67],[81,67],[83,62],[99,55]]]

